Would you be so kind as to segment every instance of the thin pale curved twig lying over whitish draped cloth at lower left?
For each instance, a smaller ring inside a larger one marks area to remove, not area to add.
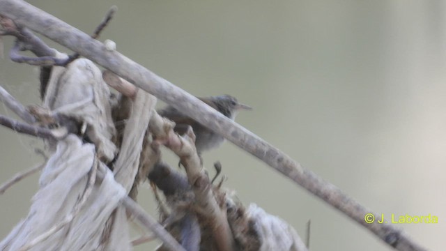
[[[59,231],[62,229],[62,227],[66,226],[68,223],[72,222],[72,220],[77,216],[77,214],[81,211],[82,207],[84,206],[87,199],[89,199],[91,192],[93,191],[93,186],[96,180],[96,174],[98,171],[98,158],[94,158],[93,165],[91,167],[91,174],[88,183],[86,184],[86,188],[84,190],[83,195],[77,200],[75,206],[72,209],[72,212],[63,218],[61,222],[58,222],[56,225],[48,229],[48,231],[45,231],[45,233],[40,234],[36,238],[33,238],[32,241],[27,243],[26,245],[23,245],[22,248],[20,248],[20,251],[26,251],[31,248],[33,248],[38,243],[41,243],[42,241],[45,241],[49,236],[52,236],[56,231]]]

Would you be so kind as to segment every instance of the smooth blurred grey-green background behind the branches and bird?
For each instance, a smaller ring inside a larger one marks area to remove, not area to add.
[[[196,96],[251,105],[237,121],[376,213],[437,215],[395,225],[430,250],[446,245],[445,1],[30,1]],[[12,63],[3,38],[0,84],[38,103],[38,68]],[[52,46],[67,52],[58,45]],[[4,105],[0,113],[13,116]],[[42,162],[40,140],[0,128],[0,183]],[[256,203],[312,250],[390,250],[369,231],[231,143],[220,160],[245,205]],[[177,160],[172,159],[172,163]],[[0,195],[0,238],[26,216],[38,175]],[[146,185],[139,201],[155,215]],[[154,243],[137,250],[153,248]]]

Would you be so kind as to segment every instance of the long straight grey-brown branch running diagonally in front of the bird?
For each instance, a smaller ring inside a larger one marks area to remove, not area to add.
[[[266,162],[278,172],[291,178],[312,194],[348,215],[358,224],[366,227],[385,243],[397,250],[425,250],[411,238],[390,224],[367,224],[364,215],[371,213],[367,208],[348,197],[339,188],[305,169],[288,155],[275,148],[254,133],[231,121],[201,100],[159,77],[143,66],[131,61],[105,45],[92,39],[86,33],[58,20],[29,3],[20,0],[0,0],[0,14],[16,23],[29,27],[44,36],[65,45],[82,56],[95,61],[117,75],[127,79],[148,93],[211,128],[240,148]]]

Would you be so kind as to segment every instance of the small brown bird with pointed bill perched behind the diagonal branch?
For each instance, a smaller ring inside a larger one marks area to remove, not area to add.
[[[232,120],[236,118],[236,115],[240,109],[252,109],[247,105],[240,104],[236,98],[229,95],[212,96],[199,99]],[[220,144],[222,144],[224,141],[224,137],[206,128],[197,121],[194,121],[194,119],[191,119],[174,107],[165,107],[164,109],[158,111],[158,114],[170,119],[171,121],[174,121],[176,123],[174,130],[180,135],[186,132],[187,126],[192,126],[196,137],[195,146],[197,147],[198,153],[214,149],[217,146],[220,146]]]

